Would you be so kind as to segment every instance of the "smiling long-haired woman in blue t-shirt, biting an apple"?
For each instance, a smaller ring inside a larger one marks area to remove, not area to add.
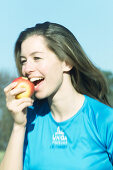
[[[25,91],[15,83],[4,89],[14,126],[0,170],[112,169],[106,81],[74,35],[56,23],[37,24],[19,35],[15,59],[35,97],[15,99]]]

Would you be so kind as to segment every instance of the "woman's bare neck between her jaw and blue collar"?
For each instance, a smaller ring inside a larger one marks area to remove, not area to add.
[[[82,107],[84,96],[78,93],[71,80],[62,84],[57,93],[48,99],[51,113],[57,122],[65,121],[74,116]]]

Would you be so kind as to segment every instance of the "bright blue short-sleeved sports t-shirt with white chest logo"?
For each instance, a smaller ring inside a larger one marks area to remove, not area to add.
[[[56,122],[47,100],[28,108],[24,170],[111,170],[113,109],[85,95],[81,109]]]

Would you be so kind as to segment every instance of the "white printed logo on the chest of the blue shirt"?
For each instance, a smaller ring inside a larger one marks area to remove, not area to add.
[[[64,135],[64,132],[60,130],[58,126],[57,132],[52,136],[52,147],[65,148],[67,147],[67,137]]]

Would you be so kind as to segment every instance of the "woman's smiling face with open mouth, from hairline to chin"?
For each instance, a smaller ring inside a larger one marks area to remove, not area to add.
[[[21,45],[22,74],[35,84],[35,96],[55,94],[63,82],[64,62],[47,48],[42,36],[33,35]]]

